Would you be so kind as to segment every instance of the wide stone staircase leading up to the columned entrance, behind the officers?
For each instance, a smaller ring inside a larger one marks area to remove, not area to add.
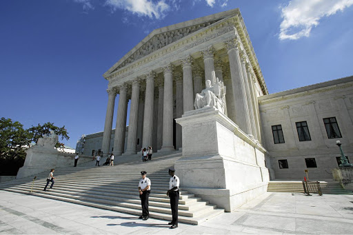
[[[146,171],[147,177],[152,182],[150,217],[171,221],[170,200],[166,195],[170,180],[168,168],[180,157],[181,152],[173,152],[166,156],[153,154],[152,161],[143,163],[141,156],[116,156],[113,167],[103,166],[104,161],[101,161],[100,167],[95,167],[95,161],[92,161],[78,167],[55,169],[54,176],[57,179],[53,189],[47,192],[44,192],[43,188],[49,170],[37,174],[33,187],[34,176],[30,176],[1,183],[0,189],[140,216],[138,185],[141,179],[140,172]],[[188,193],[182,187],[180,190],[179,222],[197,225],[224,212],[223,209],[210,205],[208,201]]]

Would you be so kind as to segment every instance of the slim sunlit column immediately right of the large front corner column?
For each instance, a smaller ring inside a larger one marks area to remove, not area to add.
[[[241,53],[241,67],[243,68],[243,76],[244,76],[244,83],[245,83],[245,93],[246,93],[246,98],[247,98],[247,103],[248,103],[248,109],[249,109],[249,116],[250,116],[250,126],[251,126],[251,131],[249,134],[252,134],[252,136],[256,136],[256,126],[255,126],[255,116],[254,116],[254,106],[252,105],[252,96],[250,94],[250,84],[249,84],[249,79],[248,79],[248,73],[246,72],[246,61],[247,57],[245,54],[245,51],[242,51]],[[255,138],[257,139],[257,138]]]

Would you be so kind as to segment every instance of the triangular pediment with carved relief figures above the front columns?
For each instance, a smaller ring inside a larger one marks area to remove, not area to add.
[[[160,50],[171,43],[179,41],[184,37],[188,37],[188,35],[193,34],[194,32],[203,30],[222,19],[233,17],[236,14],[239,14],[238,8],[153,30],[139,44],[132,48],[130,52],[125,54],[123,58],[115,63],[112,68],[105,72],[103,76],[109,76],[120,68],[125,67],[125,65],[137,61],[138,59]]]

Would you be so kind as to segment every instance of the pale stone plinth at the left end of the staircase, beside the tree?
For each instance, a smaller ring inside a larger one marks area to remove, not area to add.
[[[74,156],[76,154],[69,154],[65,152],[59,152],[54,147],[41,147],[34,145],[26,150],[26,160],[23,167],[19,168],[16,178],[23,178],[38,174],[40,172],[48,171],[56,167],[73,167]],[[92,156],[80,156],[78,165],[92,161]]]

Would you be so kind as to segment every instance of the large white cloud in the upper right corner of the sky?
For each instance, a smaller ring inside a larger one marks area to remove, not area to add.
[[[353,0],[292,0],[282,8],[279,39],[309,37],[319,20],[352,6]]]

